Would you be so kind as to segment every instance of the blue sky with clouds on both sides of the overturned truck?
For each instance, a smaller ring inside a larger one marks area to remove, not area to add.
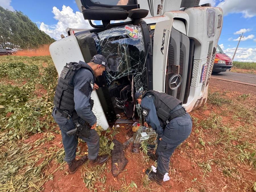
[[[256,0],[201,0],[223,9],[223,27],[218,44],[230,56],[234,53],[239,34],[244,33],[244,41],[240,42],[238,55],[234,60],[256,61]],[[83,20],[75,0],[0,0],[0,6],[10,10],[22,11],[38,28],[55,39],[65,34],[65,29],[90,28]]]

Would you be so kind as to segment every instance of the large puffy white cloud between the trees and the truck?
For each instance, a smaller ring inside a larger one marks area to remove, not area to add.
[[[62,6],[62,10],[60,11],[57,7],[53,7],[52,13],[54,14],[54,18],[58,21],[57,24],[47,25],[44,22],[40,24],[40,30],[44,31],[46,34],[51,36],[52,38],[58,40],[60,39],[60,35],[66,35],[66,28],[77,28],[77,29],[90,29],[92,28],[88,22],[88,20],[84,20],[82,13],[73,12],[69,6]]]

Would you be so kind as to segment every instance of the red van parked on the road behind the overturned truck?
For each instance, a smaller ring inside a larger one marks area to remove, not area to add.
[[[230,71],[232,66],[232,59],[222,51],[219,45],[217,45],[216,57],[214,60],[212,72],[220,73]]]

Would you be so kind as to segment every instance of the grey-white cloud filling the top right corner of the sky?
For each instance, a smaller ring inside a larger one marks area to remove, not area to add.
[[[217,7],[222,8],[224,15],[242,13],[244,18],[251,18],[256,15],[255,0],[224,0]]]

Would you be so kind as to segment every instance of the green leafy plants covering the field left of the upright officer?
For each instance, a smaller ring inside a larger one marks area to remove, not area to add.
[[[42,191],[43,184],[53,179],[52,174],[64,168],[63,148],[55,145],[41,148],[55,137],[50,131],[59,133],[51,117],[56,85],[57,71],[50,56],[0,57],[0,191]],[[104,131],[101,127],[96,130],[100,136],[99,155],[111,155],[112,140],[118,131]],[[36,133],[43,134],[33,144],[22,142]],[[77,155],[79,153],[78,147]],[[45,173],[44,168],[51,160],[61,166],[52,173]],[[84,167],[85,186],[96,191],[94,185],[100,183],[98,187],[104,191],[106,169],[106,164],[90,169]],[[132,188],[137,188],[134,181],[122,189],[131,191]]]

